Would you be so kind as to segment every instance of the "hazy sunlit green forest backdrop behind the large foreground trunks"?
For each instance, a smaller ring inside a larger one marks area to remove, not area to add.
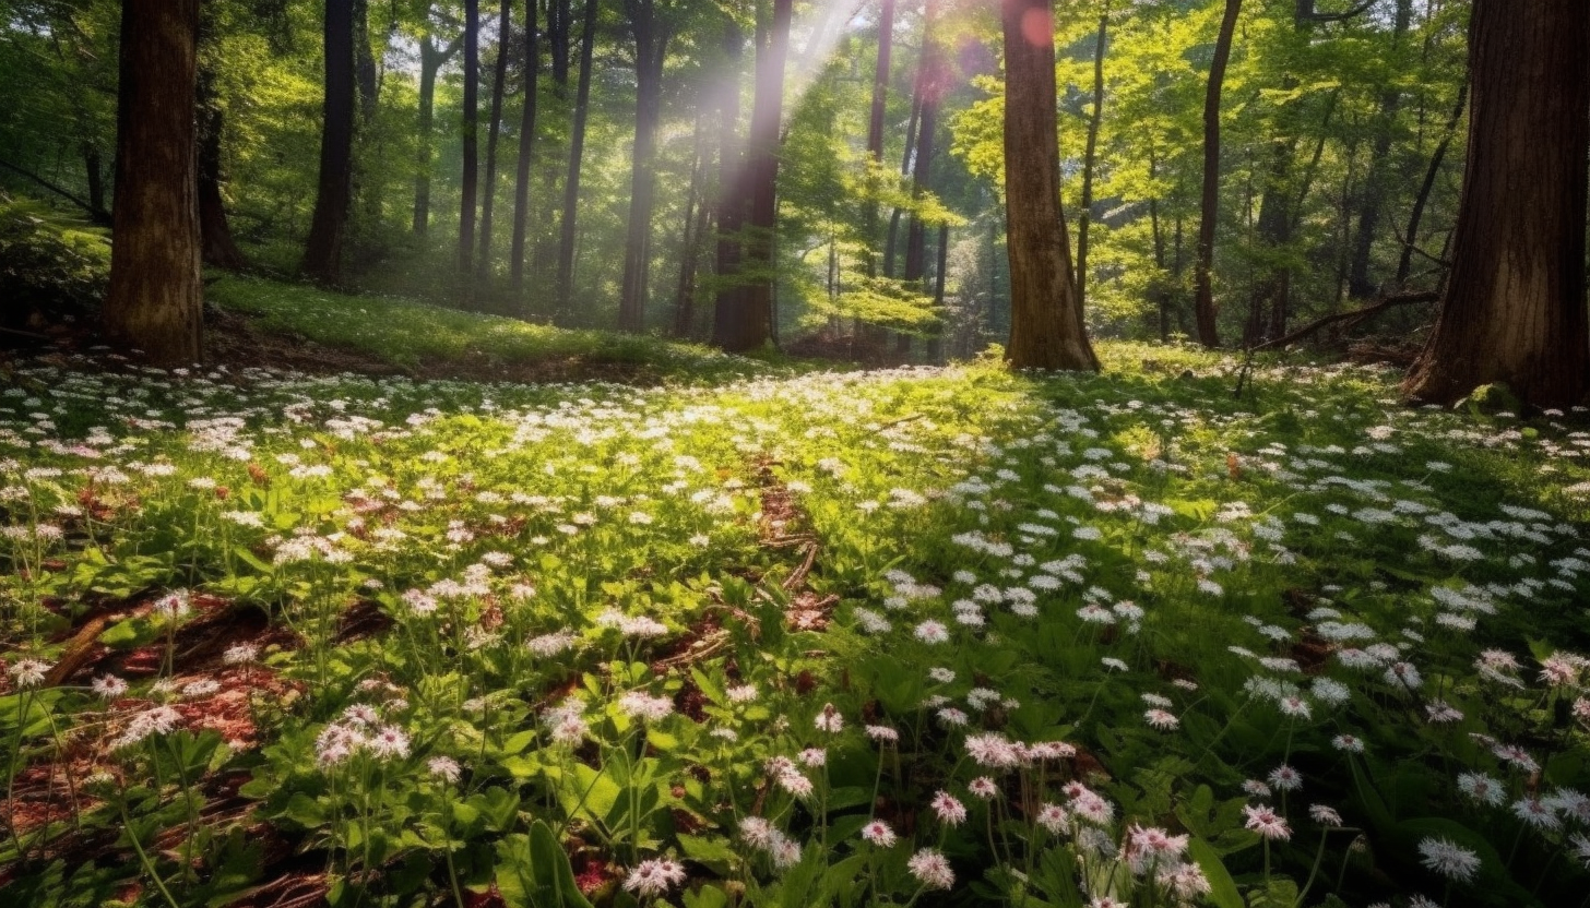
[[[1092,332],[1196,334],[1204,107],[1227,8],[1220,336],[1255,345],[1437,285],[1468,6],[1324,6],[1059,5],[1064,208]],[[119,3],[0,13],[8,205],[108,223]],[[771,143],[758,91],[782,94]],[[986,3],[798,2],[781,22],[768,2],[205,0],[196,103],[211,266],[695,339],[714,336],[722,294],[768,283],[781,345],[870,358],[965,356],[1008,331]],[[328,188],[339,103],[350,156]],[[760,153],[771,221],[736,186]],[[348,194],[347,219],[312,237],[328,191]]]

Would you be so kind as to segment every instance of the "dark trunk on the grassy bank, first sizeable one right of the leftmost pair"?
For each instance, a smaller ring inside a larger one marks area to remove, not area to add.
[[[326,2],[326,100],[320,134],[320,189],[301,270],[310,280],[342,280],[342,243],[353,196],[353,0]]]

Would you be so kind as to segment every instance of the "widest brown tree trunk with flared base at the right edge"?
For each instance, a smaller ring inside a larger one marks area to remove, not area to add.
[[[1469,154],[1441,316],[1404,391],[1452,402],[1506,383],[1584,401],[1590,16],[1584,0],[1474,0]]]

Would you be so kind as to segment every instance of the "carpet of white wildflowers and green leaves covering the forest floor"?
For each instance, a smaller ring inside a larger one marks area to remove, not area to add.
[[[1582,413],[1102,355],[24,363],[0,894],[1579,903]]]

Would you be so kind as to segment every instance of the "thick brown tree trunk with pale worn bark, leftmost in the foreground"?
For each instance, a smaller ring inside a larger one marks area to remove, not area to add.
[[[199,264],[199,0],[126,0],[105,334],[156,366],[204,356]]]

